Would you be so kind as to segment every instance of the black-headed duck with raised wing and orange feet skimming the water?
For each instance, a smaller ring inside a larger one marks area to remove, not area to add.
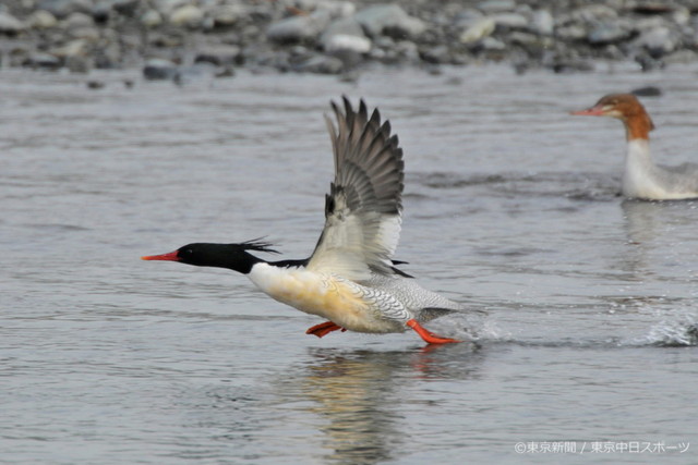
[[[429,291],[393,260],[401,230],[405,162],[398,136],[375,108],[361,99],[354,110],[344,96],[325,114],[335,178],[325,196],[325,224],[310,257],[267,260],[274,245],[252,241],[192,243],[174,252],[141,257],[197,267],[226,268],[246,276],[272,298],[325,319],[305,333],[333,331],[401,333],[413,330],[428,344],[462,342],[423,327],[461,304]]]

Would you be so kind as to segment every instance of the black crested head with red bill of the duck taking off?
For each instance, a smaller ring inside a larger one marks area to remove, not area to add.
[[[240,244],[186,244],[174,252],[163,255],[142,257],[144,260],[180,261],[196,267],[228,268],[241,273],[249,273],[254,264],[265,261],[248,250],[278,254],[272,244],[252,240]]]

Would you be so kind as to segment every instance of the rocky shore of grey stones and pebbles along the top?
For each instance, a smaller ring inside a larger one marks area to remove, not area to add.
[[[371,63],[519,72],[698,60],[698,0],[5,0],[2,66],[342,74]]]

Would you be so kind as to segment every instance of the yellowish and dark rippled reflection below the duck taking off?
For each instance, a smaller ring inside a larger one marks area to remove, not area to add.
[[[314,348],[279,395],[298,392],[312,401],[322,421],[324,458],[340,464],[395,460],[417,431],[405,423],[402,389],[414,380],[459,380],[478,376],[481,356],[470,344],[412,351]],[[424,408],[424,406],[419,406]],[[429,408],[425,408],[429,411]]]

